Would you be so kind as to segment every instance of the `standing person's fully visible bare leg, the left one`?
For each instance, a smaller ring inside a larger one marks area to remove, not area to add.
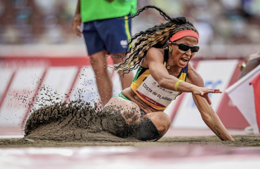
[[[107,51],[103,50],[89,55],[92,68],[95,72],[97,87],[101,102],[105,105],[112,97],[112,80],[107,69]]]

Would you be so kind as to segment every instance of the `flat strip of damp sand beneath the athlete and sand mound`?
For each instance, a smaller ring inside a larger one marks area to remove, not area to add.
[[[99,133],[105,134],[107,133]],[[217,136],[197,137],[163,137],[159,141],[138,141],[129,138],[120,138],[114,142],[114,135],[111,139],[103,141],[48,141],[22,139],[0,139],[0,148],[5,147],[67,147],[67,146],[174,146],[174,145],[199,145],[199,146],[260,146],[260,136],[233,136],[235,141],[221,141]]]

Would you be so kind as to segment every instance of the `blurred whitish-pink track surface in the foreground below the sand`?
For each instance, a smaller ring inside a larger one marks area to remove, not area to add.
[[[260,165],[260,148],[86,146],[0,149],[0,166],[55,169],[245,169]]]

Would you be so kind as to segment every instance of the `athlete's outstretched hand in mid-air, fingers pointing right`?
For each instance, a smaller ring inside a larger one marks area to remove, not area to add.
[[[209,99],[209,93],[222,93],[222,91],[220,91],[220,89],[209,89],[205,87],[195,86],[194,89],[192,90],[192,93],[194,95],[199,95],[201,97],[204,97],[209,103],[209,105],[211,105],[211,100]]]

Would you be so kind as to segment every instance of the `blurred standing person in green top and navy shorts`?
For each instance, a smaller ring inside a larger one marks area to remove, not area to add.
[[[114,64],[122,62],[119,56],[125,54],[131,38],[131,19],[125,19],[136,12],[136,6],[137,0],[78,0],[72,22],[73,33],[79,37],[84,35],[103,105],[112,97],[113,90],[106,55],[111,54]],[[131,72],[124,74],[122,88],[129,87],[132,79]]]

